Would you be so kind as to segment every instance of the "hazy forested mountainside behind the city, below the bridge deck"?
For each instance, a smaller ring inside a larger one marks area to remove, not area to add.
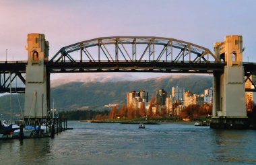
[[[106,104],[126,104],[126,93],[131,90],[146,90],[149,97],[156,94],[156,90],[164,89],[168,94],[172,86],[184,87],[195,94],[201,94],[206,88],[212,87],[212,76],[207,75],[172,75],[137,81],[116,82],[71,82],[51,88],[51,98],[61,110],[74,110],[89,107],[92,110],[102,110]],[[22,109],[24,96],[19,95]],[[149,98],[149,99],[150,99]],[[20,112],[18,99],[12,97],[13,110]],[[0,112],[9,111],[9,95],[0,97]]]

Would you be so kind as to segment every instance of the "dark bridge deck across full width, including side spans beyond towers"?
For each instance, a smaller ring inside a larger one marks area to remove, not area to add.
[[[155,73],[214,73],[222,72],[226,63],[191,63],[189,61],[75,61],[65,63],[55,63],[54,61],[44,61],[46,69],[50,73],[90,73],[90,72],[155,72]],[[7,61],[0,62],[0,74],[15,73],[22,79],[22,74],[26,73],[28,61]],[[256,75],[256,63],[243,63],[245,75]],[[25,79],[22,81],[25,84]],[[8,81],[1,80],[0,92],[9,92]],[[3,85],[5,84],[5,85]],[[12,91],[24,92],[24,88],[13,88]],[[247,89],[247,92],[256,92],[256,89]]]

